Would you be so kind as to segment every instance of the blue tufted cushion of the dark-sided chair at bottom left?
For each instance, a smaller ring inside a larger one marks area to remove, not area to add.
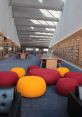
[[[0,114],[8,113],[14,98],[14,88],[0,88]]]

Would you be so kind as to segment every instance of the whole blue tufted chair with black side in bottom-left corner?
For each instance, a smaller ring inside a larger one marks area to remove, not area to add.
[[[21,95],[14,89],[0,88],[0,117],[21,117]]]

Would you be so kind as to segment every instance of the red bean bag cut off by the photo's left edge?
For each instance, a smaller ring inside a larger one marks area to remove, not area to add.
[[[18,81],[18,75],[12,71],[0,72],[0,87],[15,86]]]

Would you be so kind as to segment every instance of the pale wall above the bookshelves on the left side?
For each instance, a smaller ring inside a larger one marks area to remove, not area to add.
[[[0,32],[20,45],[9,0],[0,0]]]

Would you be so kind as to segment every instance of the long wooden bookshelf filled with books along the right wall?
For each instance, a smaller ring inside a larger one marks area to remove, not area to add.
[[[54,53],[82,68],[82,29],[52,47]]]

